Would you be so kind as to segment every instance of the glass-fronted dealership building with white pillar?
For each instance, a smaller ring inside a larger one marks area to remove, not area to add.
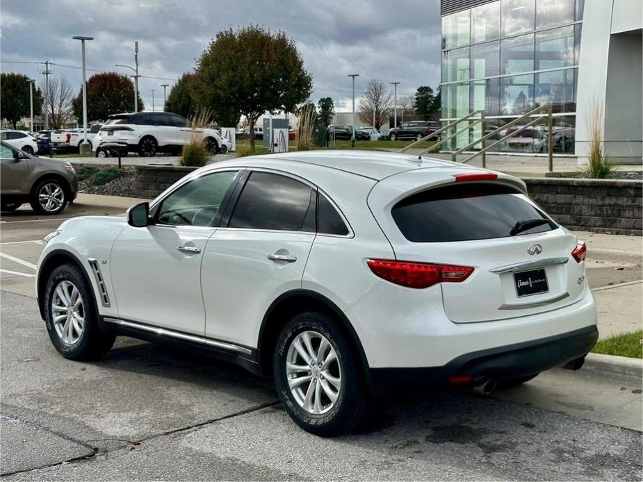
[[[441,120],[485,112],[447,150],[551,105],[554,153],[583,160],[598,106],[605,153],[642,162],[642,0],[441,0],[441,17]],[[493,150],[546,152],[543,120]]]

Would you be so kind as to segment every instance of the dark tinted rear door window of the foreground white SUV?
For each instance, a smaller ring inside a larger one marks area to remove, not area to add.
[[[253,172],[236,203],[229,227],[315,231],[313,192],[310,186],[293,178]]]

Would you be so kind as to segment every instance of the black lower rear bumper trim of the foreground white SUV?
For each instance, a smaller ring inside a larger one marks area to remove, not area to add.
[[[596,325],[585,326],[539,340],[474,351],[441,367],[371,368],[371,382],[376,394],[390,394],[400,387],[446,385],[452,376],[515,379],[567,365],[587,355],[598,339]]]

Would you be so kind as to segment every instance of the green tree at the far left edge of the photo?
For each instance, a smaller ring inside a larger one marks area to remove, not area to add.
[[[29,77],[13,72],[0,74],[0,118],[16,127],[21,117],[29,117]],[[42,110],[42,92],[33,86],[33,115]]]

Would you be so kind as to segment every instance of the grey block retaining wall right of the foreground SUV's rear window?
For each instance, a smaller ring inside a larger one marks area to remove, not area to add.
[[[527,191],[569,229],[641,235],[643,181],[526,178]]]

